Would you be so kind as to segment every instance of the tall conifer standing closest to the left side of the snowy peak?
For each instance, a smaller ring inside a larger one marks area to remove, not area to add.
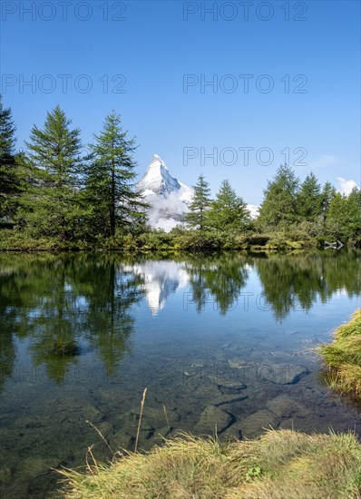
[[[85,196],[94,234],[114,236],[117,229],[129,229],[145,217],[146,203],[135,185],[132,156],[136,147],[135,139],[127,139],[127,132],[122,131],[120,115],[112,111],[102,132],[95,135],[93,161],[86,173]]]

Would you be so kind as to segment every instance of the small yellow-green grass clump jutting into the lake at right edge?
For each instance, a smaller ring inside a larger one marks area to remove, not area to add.
[[[336,329],[334,336],[332,343],[320,347],[329,368],[327,382],[361,402],[361,308]]]

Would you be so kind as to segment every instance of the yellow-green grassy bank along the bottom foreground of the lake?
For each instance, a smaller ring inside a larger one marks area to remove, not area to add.
[[[221,444],[174,438],[148,454],[64,472],[75,498],[360,497],[361,445],[351,434],[271,430],[258,440]]]

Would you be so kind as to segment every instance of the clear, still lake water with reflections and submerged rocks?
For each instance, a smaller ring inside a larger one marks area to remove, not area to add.
[[[361,435],[312,351],[360,306],[360,253],[0,255],[2,496],[49,497],[51,468],[171,431]]]

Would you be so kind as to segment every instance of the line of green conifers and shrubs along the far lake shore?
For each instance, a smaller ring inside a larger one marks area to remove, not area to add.
[[[165,233],[147,223],[148,204],[136,185],[137,144],[108,114],[93,143],[56,106],[34,125],[24,150],[0,99],[0,249],[287,249],[325,240],[361,244],[361,191],[348,196],[310,172],[300,181],[280,165],[268,181],[259,217],[228,180],[214,199],[200,175],[190,212]]]

